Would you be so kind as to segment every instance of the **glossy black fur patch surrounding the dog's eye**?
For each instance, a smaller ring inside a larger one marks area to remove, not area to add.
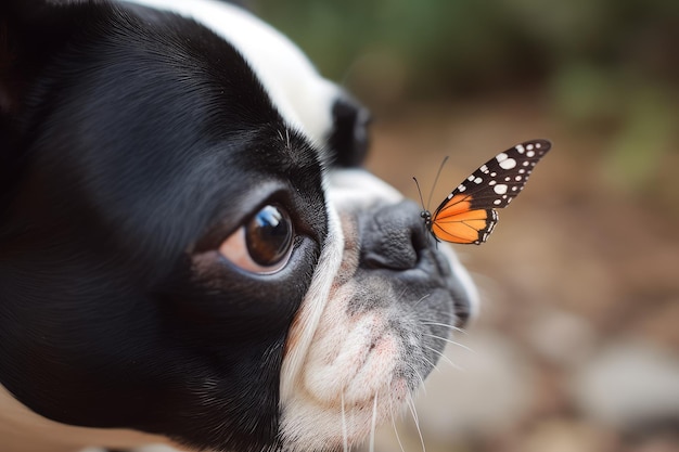
[[[273,444],[283,345],[328,230],[316,150],[192,21],[106,3],[46,17],[12,36],[26,78],[2,122],[0,383],[66,424]],[[297,234],[283,270],[196,266],[205,234],[269,202]]]

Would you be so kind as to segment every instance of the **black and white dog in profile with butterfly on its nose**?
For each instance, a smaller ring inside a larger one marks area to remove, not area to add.
[[[0,70],[2,452],[341,450],[473,312],[364,109],[246,12],[3,0]]]

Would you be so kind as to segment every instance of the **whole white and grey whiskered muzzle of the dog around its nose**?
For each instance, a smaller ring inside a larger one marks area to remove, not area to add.
[[[385,206],[400,208],[394,189],[356,170],[335,172],[330,189],[337,228],[331,228],[319,264],[323,276],[315,276],[283,362],[285,451],[342,450],[393,422],[476,305],[451,251],[426,247],[414,268],[396,272],[366,261],[364,219]]]

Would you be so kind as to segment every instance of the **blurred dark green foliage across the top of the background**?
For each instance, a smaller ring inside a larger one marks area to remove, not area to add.
[[[373,109],[528,89],[574,133],[610,137],[600,157],[613,184],[648,191],[679,155],[677,0],[258,0],[256,10]]]

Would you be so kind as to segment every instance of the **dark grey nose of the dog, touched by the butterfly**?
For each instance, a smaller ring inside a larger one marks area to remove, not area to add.
[[[412,269],[430,246],[420,207],[410,201],[368,210],[360,223],[361,264],[368,268]]]

